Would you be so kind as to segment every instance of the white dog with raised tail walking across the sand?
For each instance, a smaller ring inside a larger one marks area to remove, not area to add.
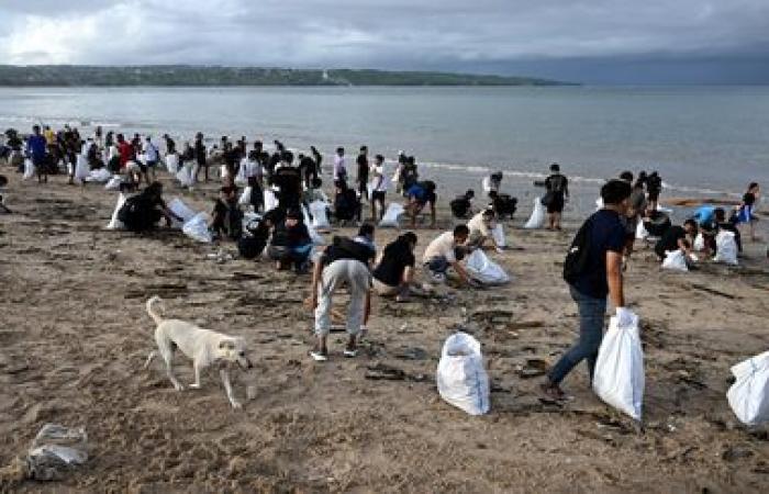
[[[246,344],[243,338],[232,337],[215,333],[209,329],[203,329],[193,324],[179,319],[164,319],[153,311],[153,304],[160,302],[160,297],[155,295],[147,301],[147,314],[153,318],[157,327],[155,328],[155,341],[157,343],[157,351],[152,351],[147,361],[144,364],[146,369],[159,352],[163,360],[166,362],[166,373],[170,379],[174,388],[181,391],[185,386],[174,375],[172,359],[174,349],[178,348],[187,357],[192,359],[194,369],[194,382],[190,384],[191,389],[200,389],[201,372],[211,367],[218,366],[222,377],[224,391],[227,393],[227,398],[233,408],[241,408],[241,403],[235,400],[230,384],[230,368],[237,363],[243,369],[254,367],[246,357]]]

